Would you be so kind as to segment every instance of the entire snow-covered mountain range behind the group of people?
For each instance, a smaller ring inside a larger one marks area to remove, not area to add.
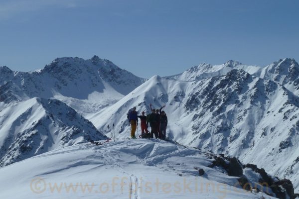
[[[100,132],[111,137],[108,124],[126,138],[131,107],[149,113],[149,103],[165,104],[168,139],[256,164],[292,180],[298,192],[298,95],[294,59],[266,67],[201,64],[149,80],[97,56],[57,58],[28,73],[0,67],[1,166],[104,139]]]

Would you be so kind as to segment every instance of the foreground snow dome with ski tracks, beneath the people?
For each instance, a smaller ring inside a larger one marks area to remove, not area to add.
[[[240,189],[239,177],[229,176],[221,166],[210,167],[215,159],[219,157],[159,140],[78,144],[1,168],[0,197],[272,199],[255,189]],[[263,178],[256,171],[243,169],[242,178],[253,188]]]

